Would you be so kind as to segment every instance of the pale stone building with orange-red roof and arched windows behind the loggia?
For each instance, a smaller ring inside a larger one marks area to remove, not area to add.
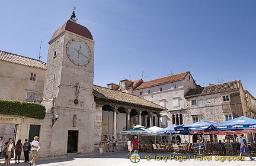
[[[163,128],[172,124],[183,125],[187,122],[184,116],[186,113],[184,96],[188,90],[196,88],[190,71],[148,82],[143,82],[142,79],[134,82],[126,79],[120,80],[120,87],[114,83],[107,85],[110,89],[132,93],[167,108],[168,110],[161,112],[161,121],[159,121],[159,126]],[[145,123],[142,124],[147,126]]]

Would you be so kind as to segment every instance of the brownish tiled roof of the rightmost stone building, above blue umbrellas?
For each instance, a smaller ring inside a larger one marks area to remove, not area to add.
[[[232,92],[234,90],[239,90],[242,86],[241,80],[235,80],[233,82],[220,83],[206,87],[199,87],[196,89],[190,89],[185,97],[192,97],[198,95],[211,95],[215,93],[222,92]]]

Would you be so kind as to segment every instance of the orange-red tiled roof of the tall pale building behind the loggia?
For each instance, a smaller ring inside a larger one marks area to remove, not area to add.
[[[188,73],[190,73],[190,72],[187,71],[185,73],[175,74],[172,76],[162,77],[159,79],[150,80],[148,82],[143,82],[136,89],[142,89],[144,87],[150,87],[150,86],[155,86],[158,84],[164,84],[164,83],[169,83],[169,82],[176,82],[178,80],[184,79],[184,77],[187,76]]]

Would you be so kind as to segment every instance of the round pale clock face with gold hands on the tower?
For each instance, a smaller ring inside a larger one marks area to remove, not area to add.
[[[70,40],[66,45],[66,53],[72,63],[85,66],[91,60],[91,51],[81,40]]]

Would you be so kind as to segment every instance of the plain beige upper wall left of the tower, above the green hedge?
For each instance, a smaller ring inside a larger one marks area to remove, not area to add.
[[[43,93],[45,70],[0,60],[0,99],[27,99],[27,91]],[[30,74],[36,80],[30,80]]]

